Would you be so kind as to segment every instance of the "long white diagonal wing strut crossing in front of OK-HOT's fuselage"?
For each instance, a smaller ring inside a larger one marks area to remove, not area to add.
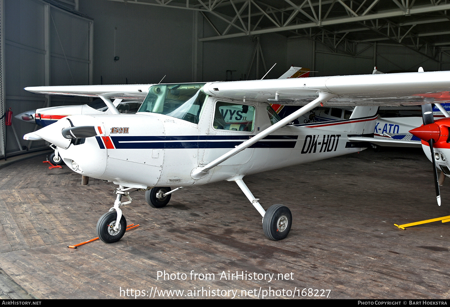
[[[250,140],[247,140],[240,145],[236,146],[234,149],[231,149],[229,152],[223,154],[216,160],[210,162],[204,167],[196,167],[191,172],[191,177],[195,180],[198,180],[200,178],[205,177],[208,175],[209,170],[213,167],[216,167],[220,163],[224,162],[228,158],[233,157],[236,153],[239,153],[243,151],[244,149],[252,146],[256,142],[262,140],[266,136],[270,135],[271,133],[277,131],[279,128],[286,126],[288,123],[292,122],[294,119],[298,118],[299,116],[302,116],[303,114],[306,114],[307,112],[314,109],[316,106],[320,105],[320,103],[324,103],[329,101],[331,98],[337,97],[338,95],[332,94],[329,92],[317,92],[319,94],[319,97],[315,100],[311,101],[304,107],[298,109],[293,114],[290,114],[289,116],[283,118],[278,123],[275,123],[273,126],[267,128],[266,130],[263,130],[262,132],[258,133],[256,136],[253,136]]]

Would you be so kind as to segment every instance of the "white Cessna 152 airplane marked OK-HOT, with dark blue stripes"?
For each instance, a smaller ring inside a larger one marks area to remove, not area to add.
[[[245,175],[360,151],[373,140],[379,105],[427,104],[432,102],[427,93],[449,88],[450,71],[32,87],[26,90],[100,97],[111,110],[111,99],[115,98],[140,98],[144,102],[132,115],[118,115],[117,111],[117,115],[67,116],[26,134],[24,139],[47,140],[58,147],[63,161],[77,173],[119,185],[114,206],[97,223],[98,236],[104,242],[123,236],[126,219],[121,206],[131,202],[131,190],[146,190],[148,204],[163,207],[178,189],[221,180],[236,182],[263,217],[264,234],[281,240],[291,228],[291,211],[281,204],[265,211],[244,183]],[[304,106],[280,119],[270,103]],[[345,120],[287,125],[319,105],[351,105],[355,110]],[[448,136],[446,129],[431,133],[425,129],[421,137],[429,139],[431,135],[433,148],[438,144],[433,139],[441,141]],[[448,156],[450,144],[444,145],[439,154]],[[128,201],[121,202],[123,196]]]

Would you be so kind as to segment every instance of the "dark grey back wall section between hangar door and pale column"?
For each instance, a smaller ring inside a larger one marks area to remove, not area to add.
[[[191,81],[192,11],[102,0],[80,11],[94,18],[94,84]]]

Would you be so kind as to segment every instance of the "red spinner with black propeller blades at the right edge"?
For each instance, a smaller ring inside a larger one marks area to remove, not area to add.
[[[439,125],[434,123],[433,108],[431,104],[422,105],[422,119],[423,119],[423,126],[414,128],[410,130],[410,132],[414,136],[417,136],[419,139],[428,142],[428,145],[430,146],[431,162],[433,164],[434,186],[436,189],[436,199],[437,204],[441,206],[441,192],[439,189],[439,179],[437,176],[437,167],[434,159],[434,150],[433,150],[433,144],[441,136],[441,129]]]

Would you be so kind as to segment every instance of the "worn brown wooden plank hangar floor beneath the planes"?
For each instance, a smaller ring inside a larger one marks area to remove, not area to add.
[[[162,209],[133,193],[123,211],[140,226],[76,250],[67,245],[96,237],[114,185],[81,186],[44,157],[0,170],[0,267],[22,287],[2,289],[7,297],[450,297],[450,223],[393,225],[450,214],[450,180],[438,207],[420,149],[367,149],[247,176],[265,208],[292,211],[283,241],[268,240],[238,186],[220,182],[176,192]]]

